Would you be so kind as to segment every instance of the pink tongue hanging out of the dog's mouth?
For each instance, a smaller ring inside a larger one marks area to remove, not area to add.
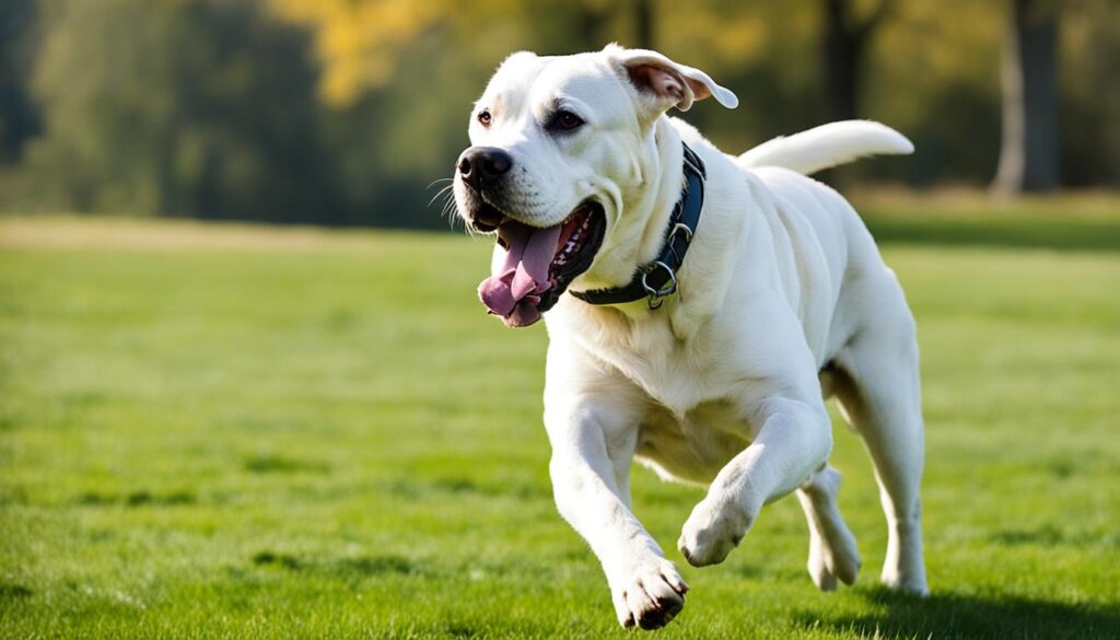
[[[478,298],[507,326],[529,326],[541,319],[536,305],[549,290],[549,265],[557,252],[562,224],[534,229],[507,222],[497,233],[505,242],[505,261],[478,285]]]

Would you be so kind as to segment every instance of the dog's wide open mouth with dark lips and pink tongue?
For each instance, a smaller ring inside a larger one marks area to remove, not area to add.
[[[488,221],[505,260],[478,285],[478,297],[506,326],[529,326],[552,308],[568,285],[587,271],[603,244],[606,216],[586,202],[563,222],[538,229],[513,219]]]

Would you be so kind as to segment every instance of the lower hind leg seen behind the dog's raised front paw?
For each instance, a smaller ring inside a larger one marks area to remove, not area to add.
[[[850,585],[859,574],[856,537],[837,505],[839,488],[840,473],[825,466],[797,489],[809,522],[809,575],[821,591],[834,591],[838,577]]]

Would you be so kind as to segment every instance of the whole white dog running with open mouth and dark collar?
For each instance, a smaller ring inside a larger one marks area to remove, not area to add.
[[[834,396],[875,463],[883,582],[926,593],[914,321],[852,207],[804,177],[913,147],[881,124],[838,122],[736,158],[665,117],[708,96],[738,103],[655,52],[519,53],[470,117],[456,201],[469,228],[497,235],[479,286],[491,313],[524,326],[548,312],[560,513],[627,627],[665,624],[688,591],[631,511],[635,456],[709,484],[678,540],[689,563],[722,562],[764,504],[796,492],[813,582],[851,584],[860,559],[828,466]]]

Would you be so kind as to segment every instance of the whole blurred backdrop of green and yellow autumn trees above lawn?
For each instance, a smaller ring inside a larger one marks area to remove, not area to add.
[[[1112,0],[4,0],[0,211],[446,226],[496,65],[612,40],[732,89],[687,115],[727,151],[870,118],[917,155],[828,179],[1120,186]]]

